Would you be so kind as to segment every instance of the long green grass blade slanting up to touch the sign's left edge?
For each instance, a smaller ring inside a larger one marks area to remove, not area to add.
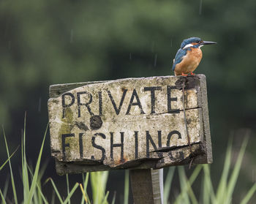
[[[36,189],[36,186],[37,186],[37,177],[38,177],[38,174],[39,174],[39,166],[40,166],[40,162],[41,162],[41,158],[42,158],[42,149],[43,149],[44,144],[45,144],[45,137],[46,137],[46,134],[47,134],[47,130],[48,130],[48,125],[47,125],[46,130],[45,130],[44,138],[42,140],[42,146],[41,146],[40,151],[39,151],[39,156],[38,156],[38,159],[37,159],[36,169],[34,170],[34,176],[33,176],[33,180],[32,180],[32,183],[31,183],[31,188],[29,190],[29,196],[28,196],[28,202],[29,203],[31,203],[31,200],[32,200],[32,197],[33,197],[33,194],[34,194],[34,190]]]

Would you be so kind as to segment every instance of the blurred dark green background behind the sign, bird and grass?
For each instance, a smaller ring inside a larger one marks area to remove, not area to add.
[[[195,71],[207,79],[215,184],[228,139],[234,138],[236,153],[246,132],[250,135],[236,187],[240,200],[256,181],[255,7],[255,0],[1,0],[0,124],[10,151],[20,144],[26,111],[27,156],[35,166],[48,124],[51,84],[173,75],[170,67],[182,40],[201,37],[218,42],[202,48],[203,60]],[[0,164],[7,159],[2,136],[1,131]],[[42,163],[47,160],[44,178],[54,178],[61,188],[65,179],[56,175],[49,135]],[[20,150],[12,165],[20,181]],[[8,167],[0,172],[1,189],[8,172]],[[81,176],[71,178],[80,182]],[[123,178],[123,171],[110,172],[110,197],[114,191],[117,200],[122,197]],[[47,185],[50,196],[52,188]],[[19,186],[19,199],[21,190]]]

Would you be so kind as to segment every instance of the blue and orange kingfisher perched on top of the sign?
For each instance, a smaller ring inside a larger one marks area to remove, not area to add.
[[[195,75],[193,72],[197,68],[203,56],[200,49],[203,45],[213,45],[217,42],[203,41],[199,37],[184,39],[181,48],[173,59],[173,72],[176,76]]]

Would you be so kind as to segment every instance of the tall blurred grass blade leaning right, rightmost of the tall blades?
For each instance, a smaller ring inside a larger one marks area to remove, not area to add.
[[[228,184],[227,184],[227,189],[225,191],[225,194],[226,194],[225,203],[230,203],[232,200],[233,191],[235,189],[236,181],[238,179],[238,175],[239,175],[239,172],[241,169],[241,163],[243,162],[244,152],[245,152],[247,143],[248,143],[248,137],[245,137],[245,139],[242,143],[242,146],[240,148],[238,158],[236,159],[236,165],[233,168],[233,172],[232,172],[232,174],[230,176],[230,180],[228,181]]]

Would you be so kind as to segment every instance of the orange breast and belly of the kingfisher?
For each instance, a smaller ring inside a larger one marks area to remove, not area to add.
[[[175,75],[189,74],[190,72],[194,72],[197,68],[198,64],[201,61],[203,56],[202,50],[200,48],[190,48],[191,50],[187,50],[187,55],[183,57],[182,61],[176,64],[175,67]]]

